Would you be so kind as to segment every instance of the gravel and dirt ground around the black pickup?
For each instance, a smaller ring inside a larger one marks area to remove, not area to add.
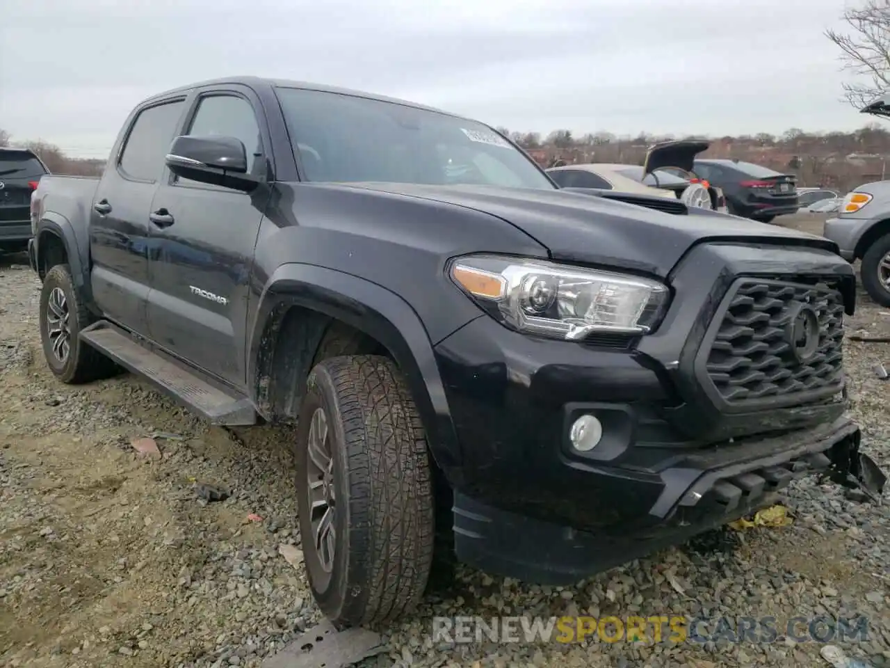
[[[789,222],[819,232],[815,216]],[[0,664],[257,666],[319,618],[302,566],[291,489],[292,434],[212,428],[134,379],[67,387],[39,346],[39,283],[0,258]],[[890,335],[860,295],[849,330]],[[890,345],[848,342],[853,411],[890,470]],[[158,435],[158,432],[166,433]],[[159,456],[131,441],[156,435]],[[174,436],[174,437],[170,437]],[[222,485],[203,502],[198,485]],[[807,480],[784,503],[793,524],[708,534],[561,589],[461,569],[448,593],[387,633],[367,666],[827,665],[815,643],[436,645],[433,615],[866,615],[852,656],[890,666],[888,505]]]

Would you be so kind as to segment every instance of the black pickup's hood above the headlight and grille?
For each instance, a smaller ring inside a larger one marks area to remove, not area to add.
[[[701,241],[798,245],[837,252],[834,243],[812,234],[705,209],[673,215],[561,190],[411,183],[349,186],[487,213],[528,234],[555,260],[620,267],[661,278]]]

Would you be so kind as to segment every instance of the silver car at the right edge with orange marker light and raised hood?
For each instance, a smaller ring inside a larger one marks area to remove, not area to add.
[[[890,118],[890,94],[865,105],[861,112]],[[837,243],[847,260],[862,260],[862,287],[878,304],[890,306],[890,180],[862,183],[848,192],[837,216],[825,221],[822,233]]]

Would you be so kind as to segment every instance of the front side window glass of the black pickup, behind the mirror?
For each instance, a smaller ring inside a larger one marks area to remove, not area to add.
[[[235,137],[244,144],[247,153],[247,167],[251,174],[257,174],[263,166],[263,143],[260,126],[256,122],[254,108],[238,95],[208,95],[198,102],[198,110],[186,134],[202,136]],[[202,188],[204,183],[190,179],[175,178],[175,183],[195,183]]]

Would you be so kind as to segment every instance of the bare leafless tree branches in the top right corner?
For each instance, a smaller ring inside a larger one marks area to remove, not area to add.
[[[862,83],[844,84],[844,96],[862,109],[890,88],[890,0],[866,0],[858,9],[847,9],[843,32],[825,32],[841,50],[844,69]]]

